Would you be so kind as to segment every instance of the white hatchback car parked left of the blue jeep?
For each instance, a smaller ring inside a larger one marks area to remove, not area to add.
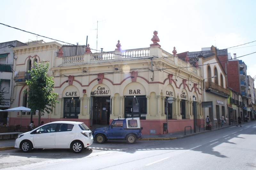
[[[58,121],[23,133],[14,147],[23,152],[36,149],[68,149],[80,153],[93,143],[92,131],[83,122]]]

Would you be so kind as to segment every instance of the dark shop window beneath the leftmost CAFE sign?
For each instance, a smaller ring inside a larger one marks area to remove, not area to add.
[[[65,98],[64,99],[64,118],[78,118],[80,114],[80,100],[79,98]]]

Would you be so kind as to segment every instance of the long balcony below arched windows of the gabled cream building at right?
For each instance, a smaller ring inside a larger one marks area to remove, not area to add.
[[[225,98],[229,98],[229,95],[230,95],[230,92],[227,89],[211,81],[205,82],[205,89],[206,89],[206,92],[214,93]]]

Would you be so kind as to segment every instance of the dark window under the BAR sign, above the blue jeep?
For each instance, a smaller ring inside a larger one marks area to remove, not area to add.
[[[147,98],[146,96],[125,96],[124,100],[125,117],[140,117],[146,119]]]

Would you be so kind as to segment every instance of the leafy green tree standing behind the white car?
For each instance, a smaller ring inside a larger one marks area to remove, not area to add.
[[[36,69],[28,71],[31,73],[31,79],[27,80],[28,92],[28,105],[31,107],[31,112],[39,111],[38,113],[38,126],[40,125],[41,115],[44,113],[52,112],[51,107],[55,107],[55,103],[59,103],[56,98],[58,93],[53,93],[54,81],[53,77],[47,77],[49,69],[49,62],[44,61],[35,63]],[[32,114],[32,113],[31,113]]]

